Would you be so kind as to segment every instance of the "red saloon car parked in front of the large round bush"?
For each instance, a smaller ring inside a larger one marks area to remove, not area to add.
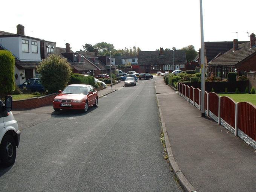
[[[86,112],[88,107],[98,106],[98,92],[92,85],[73,84],[68,85],[63,91],[59,91],[53,101],[54,111],[61,109],[79,109]]]

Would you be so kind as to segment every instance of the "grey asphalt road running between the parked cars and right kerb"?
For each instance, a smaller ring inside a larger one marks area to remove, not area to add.
[[[182,191],[163,158],[153,80],[99,99],[87,113],[15,112],[17,159],[0,191]]]

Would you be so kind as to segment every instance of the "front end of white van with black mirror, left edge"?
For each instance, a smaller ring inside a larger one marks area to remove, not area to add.
[[[12,115],[12,96],[5,97],[5,104],[0,100],[0,163],[11,166],[15,163],[16,148],[20,143],[18,123]]]

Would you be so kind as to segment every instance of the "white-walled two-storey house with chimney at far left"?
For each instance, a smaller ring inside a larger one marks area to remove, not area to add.
[[[0,31],[0,47],[15,56],[15,83],[36,78],[36,68],[41,62],[40,39],[25,35],[24,26],[17,25],[17,34]]]

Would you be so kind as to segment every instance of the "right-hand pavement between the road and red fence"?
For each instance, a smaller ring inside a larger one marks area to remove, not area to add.
[[[201,117],[201,111],[162,78],[156,79],[156,95],[174,158],[169,154],[170,161],[178,165],[173,171],[183,173],[193,186],[184,183],[185,191],[256,191],[256,151],[252,147]]]

